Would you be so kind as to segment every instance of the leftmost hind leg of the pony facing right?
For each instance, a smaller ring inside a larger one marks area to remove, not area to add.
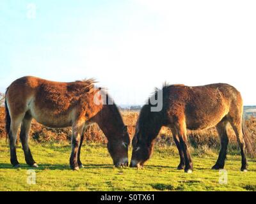
[[[10,156],[11,156],[11,164],[13,167],[18,168],[19,161],[17,160],[16,154],[16,142],[17,142],[17,133],[20,126],[20,120],[11,120],[10,132],[8,133],[9,141],[10,141]]]

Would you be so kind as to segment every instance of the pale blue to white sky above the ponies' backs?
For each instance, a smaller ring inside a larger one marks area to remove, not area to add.
[[[35,15],[33,15],[33,6]],[[255,1],[0,1],[0,91],[16,78],[96,78],[116,103],[166,81],[227,82],[256,105]]]

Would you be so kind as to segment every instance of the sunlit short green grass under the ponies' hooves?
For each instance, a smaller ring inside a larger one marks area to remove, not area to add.
[[[240,156],[228,156],[225,169],[228,184],[219,184],[219,171],[211,170],[217,158],[214,150],[193,150],[192,174],[176,170],[179,156],[175,147],[159,147],[145,168],[113,168],[106,145],[84,144],[84,168],[72,171],[68,165],[70,145],[31,142],[39,168],[36,184],[27,184],[27,170],[19,145],[20,169],[10,164],[8,145],[0,140],[0,191],[255,191],[256,160],[249,159],[249,171],[239,171]],[[202,152],[204,154],[202,154]],[[131,152],[130,152],[131,153]]]

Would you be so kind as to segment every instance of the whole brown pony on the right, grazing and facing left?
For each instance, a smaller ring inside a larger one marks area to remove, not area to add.
[[[161,94],[159,94],[161,92]],[[150,101],[157,95],[163,96],[163,108],[152,112]],[[221,140],[221,150],[212,169],[224,168],[227,154],[227,123],[230,122],[241,149],[242,167],[246,171],[245,147],[252,152],[250,138],[243,134],[243,100],[241,94],[228,84],[211,84],[198,87],[185,85],[164,85],[148,100],[148,105],[141,109],[132,140],[131,166],[143,166],[152,154],[154,139],[162,126],[172,130],[174,141],[180,155],[178,169],[191,173],[193,163],[188,150],[187,129],[198,130],[216,126]],[[245,145],[246,143],[246,145]]]

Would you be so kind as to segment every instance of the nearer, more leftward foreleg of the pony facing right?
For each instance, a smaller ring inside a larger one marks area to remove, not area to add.
[[[84,123],[79,121],[72,126],[72,151],[69,159],[70,168],[72,168],[72,170],[79,170],[77,153],[81,141],[81,135],[83,133],[83,125]]]

